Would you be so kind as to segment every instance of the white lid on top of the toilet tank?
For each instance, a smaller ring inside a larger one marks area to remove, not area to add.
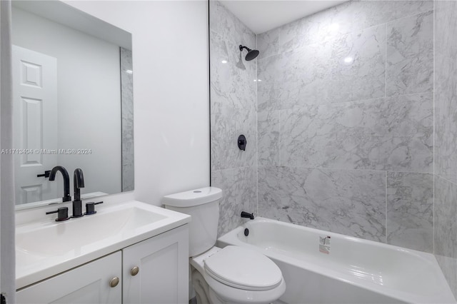
[[[216,187],[205,187],[191,191],[170,194],[162,198],[165,206],[192,207],[211,203],[222,198],[222,190]]]

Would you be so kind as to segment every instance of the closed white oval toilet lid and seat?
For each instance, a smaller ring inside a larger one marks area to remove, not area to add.
[[[242,290],[271,290],[283,281],[281,270],[265,255],[232,245],[204,259],[204,270],[214,280]]]

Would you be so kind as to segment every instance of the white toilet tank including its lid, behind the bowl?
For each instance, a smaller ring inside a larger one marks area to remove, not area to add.
[[[204,253],[216,244],[222,190],[206,187],[164,196],[166,209],[189,214],[189,256]]]

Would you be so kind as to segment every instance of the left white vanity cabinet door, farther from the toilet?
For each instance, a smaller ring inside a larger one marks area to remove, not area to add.
[[[16,303],[121,303],[121,263],[121,251],[111,253],[19,290]]]

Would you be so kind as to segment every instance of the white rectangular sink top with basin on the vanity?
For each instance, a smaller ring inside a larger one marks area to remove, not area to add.
[[[190,221],[184,214],[138,201],[96,207],[91,216],[63,222],[48,217],[16,226],[16,288]]]

